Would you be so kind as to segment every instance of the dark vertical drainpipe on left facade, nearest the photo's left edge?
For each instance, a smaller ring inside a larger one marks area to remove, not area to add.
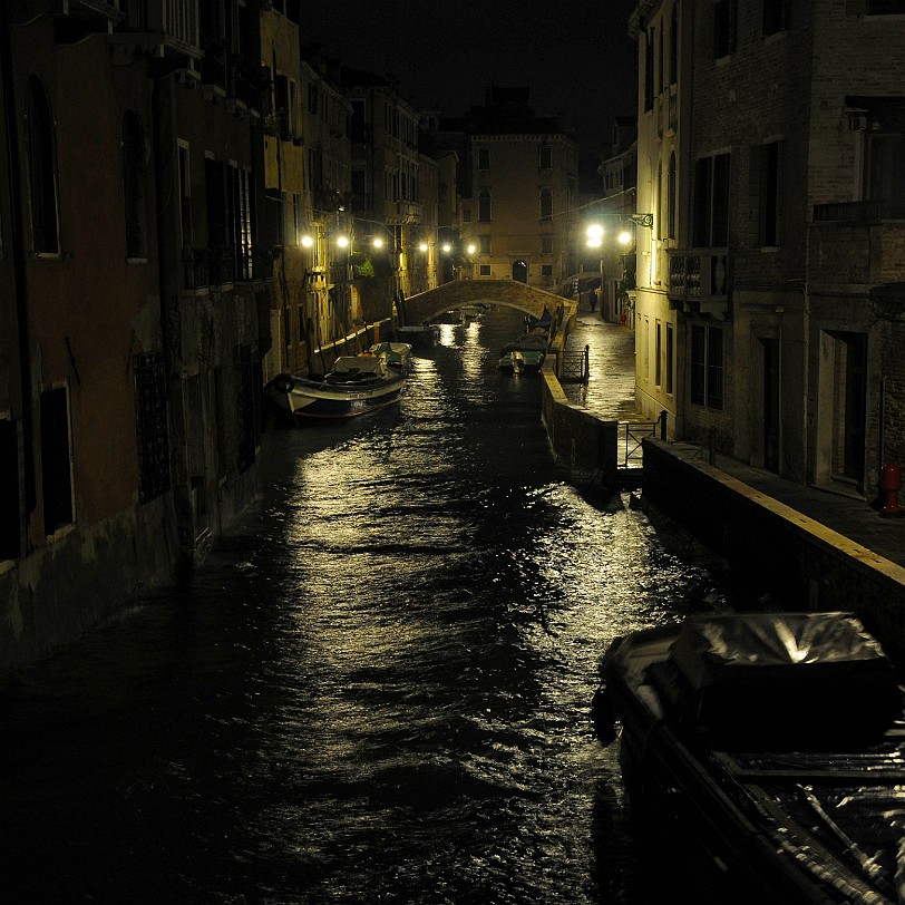
[[[0,3],[0,66],[3,79],[3,132],[7,142],[9,159],[7,178],[10,192],[10,236],[12,237],[12,273],[16,289],[16,322],[19,346],[19,372],[21,380],[22,407],[22,460],[26,512],[28,515],[35,509],[35,415],[32,410],[31,385],[31,342],[29,340],[29,308],[28,308],[28,278],[26,274],[26,257],[22,243],[26,233],[22,228],[21,212],[21,175],[22,167],[19,159],[19,129],[16,115],[14,68],[12,65],[12,48],[10,42],[9,9],[7,3]],[[20,538],[22,523],[20,520]],[[28,532],[26,544],[28,543]]]

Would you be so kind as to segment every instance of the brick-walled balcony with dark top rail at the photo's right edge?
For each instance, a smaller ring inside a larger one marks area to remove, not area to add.
[[[811,288],[905,281],[905,202],[857,201],[814,206]]]

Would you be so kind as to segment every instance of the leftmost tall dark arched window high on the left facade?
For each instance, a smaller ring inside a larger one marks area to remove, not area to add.
[[[37,254],[59,254],[53,118],[47,93],[35,76],[28,80],[26,88],[26,138],[32,251]]]

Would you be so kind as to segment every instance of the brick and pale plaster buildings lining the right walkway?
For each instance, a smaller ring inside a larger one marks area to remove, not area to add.
[[[905,4],[644,0],[630,32],[640,407],[872,502],[905,458]]]

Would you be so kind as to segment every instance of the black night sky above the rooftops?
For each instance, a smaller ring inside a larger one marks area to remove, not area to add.
[[[488,85],[527,86],[537,115],[561,116],[585,155],[609,138],[614,116],[635,113],[633,7],[566,0],[537,14],[524,0],[334,0],[303,3],[301,32],[352,68],[392,74],[418,109],[457,116],[484,103]]]

